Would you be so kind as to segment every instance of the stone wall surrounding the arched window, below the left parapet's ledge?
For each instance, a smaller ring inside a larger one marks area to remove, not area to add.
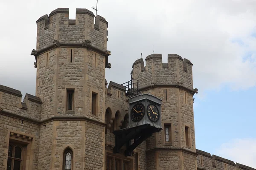
[[[18,141],[27,148],[29,156],[23,157],[26,167],[38,170],[40,127],[37,124],[12,118],[0,113],[0,169],[6,170],[9,140]],[[29,139],[30,137],[30,139]]]

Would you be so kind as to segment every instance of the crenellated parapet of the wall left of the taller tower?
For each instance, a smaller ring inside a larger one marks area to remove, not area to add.
[[[20,91],[0,85],[0,113],[40,121],[41,99],[31,94],[26,94],[23,102],[21,98]]]

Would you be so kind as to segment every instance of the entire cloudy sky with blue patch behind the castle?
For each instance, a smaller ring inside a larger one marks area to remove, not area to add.
[[[0,84],[35,94],[36,20],[58,7],[96,0],[1,0]],[[106,78],[130,78],[149,54],[178,54],[193,65],[196,147],[256,168],[256,0],[99,0],[108,21],[112,68]]]

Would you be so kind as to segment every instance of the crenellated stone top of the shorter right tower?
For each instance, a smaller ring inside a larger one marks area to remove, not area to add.
[[[192,62],[177,54],[168,54],[168,62],[162,62],[162,54],[151,54],[133,64],[133,79],[139,81],[139,88],[152,85],[182,85],[193,88]]]

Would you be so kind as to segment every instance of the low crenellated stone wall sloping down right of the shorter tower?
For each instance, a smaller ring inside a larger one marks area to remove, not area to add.
[[[243,164],[235,163],[229,159],[222,158],[220,156],[211,155],[210,153],[204,152],[203,150],[196,149],[198,169],[225,169],[225,166],[229,170],[256,170],[252,167],[248,167]]]

